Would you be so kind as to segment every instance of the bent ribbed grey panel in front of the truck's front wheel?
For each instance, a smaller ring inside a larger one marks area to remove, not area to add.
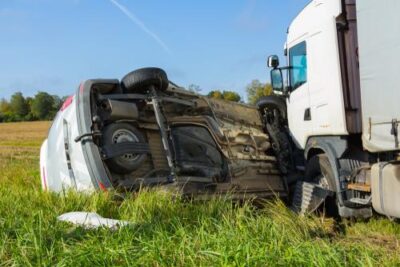
[[[316,211],[328,196],[333,196],[334,192],[323,187],[307,183],[297,182],[291,209],[301,215]]]

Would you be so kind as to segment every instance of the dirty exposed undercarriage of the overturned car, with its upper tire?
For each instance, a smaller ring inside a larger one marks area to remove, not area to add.
[[[95,83],[90,98],[90,137],[116,189],[287,196],[256,107],[199,96],[156,68],[134,71],[121,84]]]

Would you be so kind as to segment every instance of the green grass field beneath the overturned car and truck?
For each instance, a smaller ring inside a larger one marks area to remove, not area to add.
[[[337,227],[329,219],[300,218],[277,201],[255,209],[149,191],[123,202],[112,193],[43,193],[39,148],[48,127],[0,124],[0,266],[400,265],[400,224],[385,218]],[[56,220],[68,211],[133,225],[84,230]]]

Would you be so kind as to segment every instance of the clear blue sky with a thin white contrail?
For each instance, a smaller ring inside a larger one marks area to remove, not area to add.
[[[72,94],[89,78],[156,66],[207,93],[245,96],[282,57],[290,21],[309,0],[0,0],[0,98]]]

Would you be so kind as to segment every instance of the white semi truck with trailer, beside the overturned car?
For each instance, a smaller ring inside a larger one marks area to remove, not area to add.
[[[287,66],[268,59],[286,101],[258,105],[287,123],[275,138],[282,161],[298,170],[300,151],[304,181],[334,192],[325,204],[342,217],[400,218],[399,11],[398,0],[313,0],[288,29]]]

